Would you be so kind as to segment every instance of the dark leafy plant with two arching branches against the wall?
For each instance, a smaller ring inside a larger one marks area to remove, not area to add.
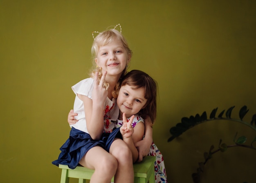
[[[230,107],[226,113],[225,113],[225,110],[222,110],[222,112],[220,112],[218,117],[216,117],[218,108],[215,108],[211,111],[209,119],[207,119],[207,113],[205,111],[202,113],[201,116],[199,114],[196,114],[195,116],[190,116],[189,118],[183,117],[181,119],[181,123],[177,123],[176,126],[170,129],[170,133],[172,136],[168,139],[168,142],[172,141],[176,137],[179,137],[183,132],[185,132],[186,130],[189,130],[190,128],[193,128],[194,126],[197,126],[207,121],[214,121],[214,120],[236,121],[246,126],[249,126],[254,131],[256,131],[256,114],[252,116],[252,120],[250,123],[243,121],[243,118],[249,111],[249,109],[247,109],[247,106],[243,106],[239,111],[240,119],[234,119],[234,118],[231,118],[231,112],[234,109],[234,107],[235,106]],[[224,113],[226,117],[223,117]],[[205,169],[205,164],[207,163],[207,161],[209,161],[209,159],[212,158],[213,154],[217,152],[225,152],[228,148],[232,148],[232,147],[243,147],[243,148],[250,148],[250,149],[256,150],[256,148],[253,146],[253,143],[256,141],[256,137],[254,137],[250,145],[244,144],[247,141],[247,138],[245,136],[238,137],[238,139],[236,139],[236,137],[237,137],[237,133],[234,137],[233,145],[228,146],[226,143],[222,143],[222,139],[220,139],[217,150],[213,150],[214,146],[212,145],[209,149],[209,152],[204,152],[204,162],[200,162],[199,168],[197,168],[197,172],[192,174],[194,183],[200,183],[201,174]]]

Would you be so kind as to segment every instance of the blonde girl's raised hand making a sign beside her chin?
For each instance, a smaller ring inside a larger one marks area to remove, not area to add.
[[[104,102],[108,96],[108,90],[104,86],[106,75],[107,75],[107,71],[105,71],[102,74],[101,80],[99,82],[99,79],[98,79],[99,73],[98,72],[95,73],[94,87],[93,87],[93,91],[92,91],[92,101],[94,102],[94,104],[103,106]]]

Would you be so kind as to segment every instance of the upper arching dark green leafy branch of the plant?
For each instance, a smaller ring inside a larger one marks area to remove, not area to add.
[[[190,116],[189,118],[183,117],[181,119],[181,123],[177,123],[176,126],[173,126],[170,129],[170,133],[172,136],[168,139],[168,142],[172,141],[176,137],[179,137],[183,132],[185,132],[186,130],[189,130],[190,128],[193,128],[194,126],[197,126],[207,121],[214,121],[214,120],[236,121],[246,126],[249,126],[254,131],[256,131],[256,114],[252,116],[252,121],[250,123],[243,121],[243,118],[249,111],[249,109],[247,109],[247,106],[243,106],[239,111],[240,119],[234,119],[234,118],[231,118],[231,112],[234,109],[234,107],[235,106],[230,107],[226,113],[225,113],[225,110],[222,110],[222,112],[220,112],[220,114],[217,117],[216,117],[216,113],[218,108],[215,108],[211,111],[209,119],[207,119],[207,113],[205,111],[202,113],[202,115],[196,114],[195,116]],[[226,117],[222,117],[224,113]]]

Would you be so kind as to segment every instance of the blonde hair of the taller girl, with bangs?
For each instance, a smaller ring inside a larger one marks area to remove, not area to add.
[[[109,29],[109,30],[99,33],[99,35],[97,35],[95,37],[94,42],[92,43],[92,60],[93,60],[93,62],[92,62],[93,67],[92,67],[92,73],[91,73],[92,78],[94,78],[94,75],[96,72],[99,73],[99,81],[102,76],[101,68],[97,67],[97,64],[95,63],[95,59],[97,58],[97,55],[99,53],[100,46],[105,46],[107,44],[110,44],[111,42],[113,42],[116,39],[119,40],[124,45],[124,48],[126,49],[127,54],[130,55],[130,57],[132,56],[132,51],[129,49],[128,42],[126,41],[124,36],[119,31],[117,31],[115,29]],[[126,68],[124,69],[121,77],[124,77],[124,75],[127,72],[127,68],[128,68],[128,62],[127,62]],[[108,84],[105,83],[104,85],[107,86]]]

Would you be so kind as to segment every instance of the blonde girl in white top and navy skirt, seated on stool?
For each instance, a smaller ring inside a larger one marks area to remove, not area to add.
[[[119,116],[112,91],[126,73],[132,52],[123,35],[110,29],[95,37],[92,55],[92,77],[72,86],[77,122],[70,125],[70,137],[53,164],[94,169],[91,183],[109,183],[114,175],[115,183],[132,183],[132,152],[112,122]]]

